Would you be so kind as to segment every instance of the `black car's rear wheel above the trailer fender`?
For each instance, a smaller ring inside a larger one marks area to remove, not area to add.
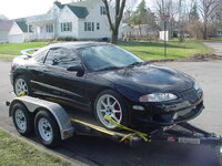
[[[23,76],[23,75],[19,75],[13,84],[13,91],[16,95],[21,94],[22,92],[26,92],[27,95],[32,95],[31,93],[31,87],[30,87],[30,82],[29,80]]]

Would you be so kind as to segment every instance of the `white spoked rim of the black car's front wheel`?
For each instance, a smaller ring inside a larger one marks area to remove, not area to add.
[[[112,117],[118,123],[122,120],[122,108],[120,103],[112,95],[102,95],[97,103],[97,114],[100,122],[108,128],[114,128],[115,125],[104,120],[104,115]]]

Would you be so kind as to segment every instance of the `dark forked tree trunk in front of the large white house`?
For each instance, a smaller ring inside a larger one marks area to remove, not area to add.
[[[117,44],[119,27],[122,20],[127,0],[115,0],[115,2],[113,3],[115,8],[114,20],[112,20],[111,13],[110,13],[110,3],[112,2],[112,0],[102,0],[102,1],[107,10],[107,17],[110,24],[110,29],[112,31],[111,43]]]

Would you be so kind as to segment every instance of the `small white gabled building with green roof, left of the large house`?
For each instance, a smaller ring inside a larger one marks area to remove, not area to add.
[[[9,31],[9,43],[22,43],[32,40],[33,33],[29,30],[26,21],[13,21]]]

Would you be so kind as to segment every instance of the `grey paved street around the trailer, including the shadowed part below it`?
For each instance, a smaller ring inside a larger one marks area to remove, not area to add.
[[[222,63],[164,63],[193,75],[204,91],[206,110],[192,123],[211,132],[222,134]],[[10,100],[12,87],[9,81],[10,62],[0,61],[0,126],[17,133],[8,117],[4,101]],[[31,138],[36,144],[34,138]],[[40,145],[41,146],[41,145]],[[78,164],[104,166],[218,166],[215,151],[209,146],[172,144],[144,144],[141,148],[129,148],[121,144],[90,136],[75,136],[63,143],[57,153],[79,160]]]

